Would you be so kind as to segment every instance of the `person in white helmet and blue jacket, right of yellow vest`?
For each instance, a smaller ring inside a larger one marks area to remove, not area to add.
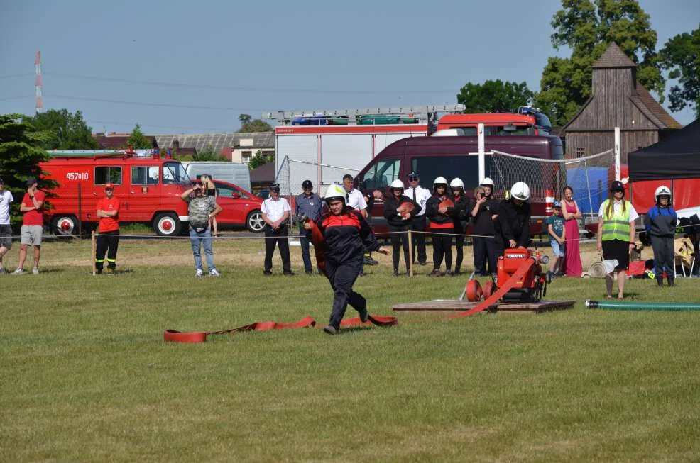
[[[676,286],[674,236],[678,215],[671,206],[671,190],[659,186],[654,192],[655,205],[647,211],[647,235],[654,250],[654,273],[659,286],[664,286],[664,272],[669,286]]]

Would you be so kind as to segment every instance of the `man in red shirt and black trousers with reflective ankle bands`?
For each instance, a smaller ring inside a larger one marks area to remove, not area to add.
[[[95,268],[102,273],[104,255],[107,255],[107,274],[114,274],[116,250],[119,247],[119,199],[114,197],[114,185],[104,185],[104,198],[97,201],[99,235],[97,235],[97,255]]]

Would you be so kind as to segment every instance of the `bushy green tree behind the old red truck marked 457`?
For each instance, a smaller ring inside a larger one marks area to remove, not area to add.
[[[94,150],[99,146],[80,111],[50,109],[27,119],[35,130],[45,133],[42,146],[46,150]]]

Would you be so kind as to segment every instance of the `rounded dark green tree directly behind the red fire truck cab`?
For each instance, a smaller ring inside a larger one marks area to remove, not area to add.
[[[465,113],[504,113],[530,103],[532,91],[525,82],[487,80],[483,84],[467,82],[457,94],[457,102],[464,104]]]

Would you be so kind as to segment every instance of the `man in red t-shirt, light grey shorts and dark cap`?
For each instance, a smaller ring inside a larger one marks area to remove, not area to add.
[[[43,233],[44,217],[43,206],[45,194],[37,189],[34,177],[27,179],[27,192],[24,194],[19,211],[22,217],[21,246],[19,247],[19,262],[14,274],[24,273],[24,261],[27,258],[27,246],[34,246],[33,274],[39,273],[39,257],[41,256],[41,235]]]

